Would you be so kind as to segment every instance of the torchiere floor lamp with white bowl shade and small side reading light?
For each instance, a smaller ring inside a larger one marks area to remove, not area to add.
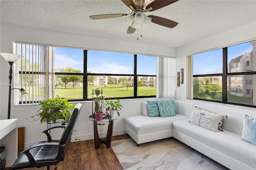
[[[12,65],[19,59],[23,58],[21,55],[16,55],[12,53],[0,53],[2,57],[10,64],[10,75],[9,75],[9,100],[8,100],[8,117],[7,119],[10,119],[10,110],[11,110],[11,91],[12,91]],[[17,89],[17,88],[14,88]],[[24,90],[20,89],[21,97],[27,97],[29,94]]]

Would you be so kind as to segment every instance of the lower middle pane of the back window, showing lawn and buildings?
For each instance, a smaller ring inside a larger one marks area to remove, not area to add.
[[[128,76],[88,76],[88,99],[92,98],[92,90],[102,89],[104,98],[133,97],[134,77]]]

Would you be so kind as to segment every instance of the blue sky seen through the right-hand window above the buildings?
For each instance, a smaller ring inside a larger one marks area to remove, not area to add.
[[[250,42],[228,47],[228,63],[244,53],[252,51]],[[193,74],[222,73],[222,48],[193,55]]]

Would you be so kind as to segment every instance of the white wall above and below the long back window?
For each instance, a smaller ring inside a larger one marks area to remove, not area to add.
[[[116,40],[107,40],[102,38],[92,38],[74,34],[64,34],[50,32],[46,30],[31,29],[21,26],[2,24],[0,27],[0,52],[12,53],[13,42],[31,42],[52,45],[62,45],[70,47],[81,47],[86,49],[102,49],[110,51],[122,51],[125,53],[138,53],[148,55],[161,55],[175,57],[175,49],[170,47],[161,47],[156,45],[145,45],[140,43],[121,42]],[[8,83],[10,65],[0,57],[0,84]],[[39,140],[45,140],[45,135],[41,132],[47,128],[46,124],[40,124],[40,121],[29,122],[26,118],[35,115],[39,109],[38,105],[14,106],[13,91],[11,103],[11,119],[18,118],[18,127],[25,127],[25,147]],[[123,109],[121,117],[114,121],[114,135],[124,134],[123,118],[128,115],[141,113],[141,103],[146,99],[122,100]],[[92,139],[93,123],[88,120],[92,112],[92,103],[90,101],[81,102],[82,111],[76,123],[75,130],[77,134],[73,138],[81,140]],[[8,110],[8,87],[0,87],[0,119],[7,119]],[[101,135],[106,135],[107,126],[99,126]],[[51,131],[51,133],[53,133]],[[102,136],[102,137],[103,137]]]

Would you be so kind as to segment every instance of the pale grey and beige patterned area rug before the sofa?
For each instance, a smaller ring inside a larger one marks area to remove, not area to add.
[[[174,138],[137,146],[132,138],[111,144],[124,170],[228,170]]]

